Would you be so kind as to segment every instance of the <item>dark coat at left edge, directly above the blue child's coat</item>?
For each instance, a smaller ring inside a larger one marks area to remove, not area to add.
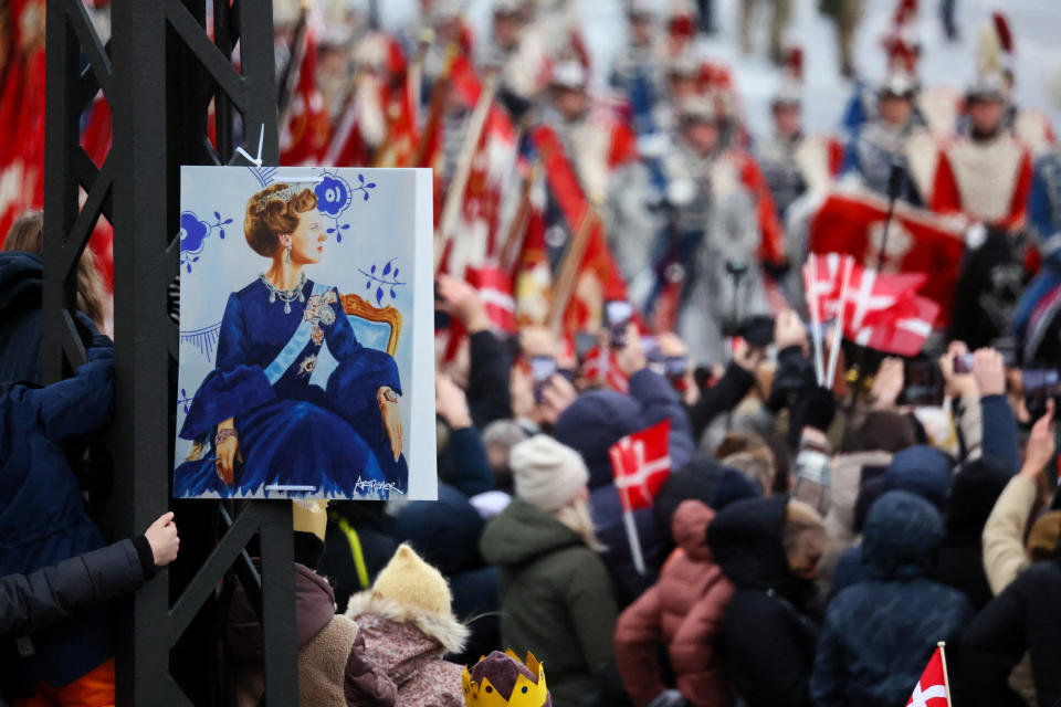
[[[41,380],[41,256],[0,253],[0,383]]]

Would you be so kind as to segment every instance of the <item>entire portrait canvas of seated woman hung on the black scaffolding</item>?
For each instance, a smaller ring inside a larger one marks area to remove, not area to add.
[[[174,496],[434,499],[431,171],[183,167]]]

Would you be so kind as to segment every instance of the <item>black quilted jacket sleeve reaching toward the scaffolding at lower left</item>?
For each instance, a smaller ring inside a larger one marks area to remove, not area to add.
[[[144,583],[133,540],[63,560],[32,574],[0,578],[0,636],[34,633]]]

